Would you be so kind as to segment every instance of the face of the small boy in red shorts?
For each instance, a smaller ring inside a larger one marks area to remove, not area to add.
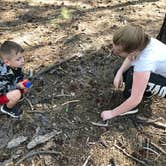
[[[18,52],[17,54],[13,51],[11,58],[5,58],[4,63],[12,68],[22,68],[24,66],[23,53]]]

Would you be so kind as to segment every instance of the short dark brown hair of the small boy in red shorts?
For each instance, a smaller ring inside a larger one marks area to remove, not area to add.
[[[13,51],[18,54],[19,52],[24,52],[24,49],[14,41],[5,41],[0,47],[0,55],[2,58],[11,58]]]

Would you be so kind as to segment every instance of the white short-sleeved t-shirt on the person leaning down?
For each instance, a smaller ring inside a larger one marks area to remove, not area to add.
[[[134,71],[150,71],[166,77],[166,45],[155,38],[132,61]]]

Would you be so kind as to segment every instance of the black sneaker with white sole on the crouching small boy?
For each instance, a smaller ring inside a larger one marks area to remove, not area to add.
[[[22,110],[17,108],[16,106],[9,109],[6,105],[2,105],[0,111],[4,114],[7,114],[13,118],[19,118],[22,114]]]

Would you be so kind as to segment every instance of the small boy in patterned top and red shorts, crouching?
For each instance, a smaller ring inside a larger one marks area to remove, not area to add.
[[[24,49],[13,41],[0,47],[0,111],[18,118],[22,111],[17,103],[25,89],[23,85]]]

